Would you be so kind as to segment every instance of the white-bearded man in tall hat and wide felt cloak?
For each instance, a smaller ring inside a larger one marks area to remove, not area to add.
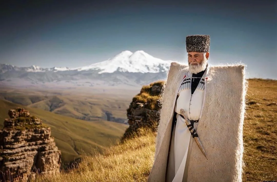
[[[210,36],[186,37],[162,91],[148,181],[242,181],[244,65],[210,66]]]

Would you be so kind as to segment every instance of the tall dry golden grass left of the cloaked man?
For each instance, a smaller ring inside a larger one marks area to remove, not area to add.
[[[147,181],[153,165],[156,135],[147,130],[142,132],[147,134],[106,148],[104,154],[95,151],[93,156],[84,156],[68,173],[41,175],[34,181]]]

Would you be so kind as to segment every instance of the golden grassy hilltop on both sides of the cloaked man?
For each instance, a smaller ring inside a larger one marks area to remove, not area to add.
[[[277,179],[277,81],[250,79],[243,140],[243,181]],[[154,160],[155,133],[86,156],[78,168],[35,181],[147,181]]]

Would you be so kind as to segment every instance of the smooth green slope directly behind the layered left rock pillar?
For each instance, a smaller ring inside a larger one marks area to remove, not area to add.
[[[78,158],[82,150],[86,153],[94,148],[102,151],[104,146],[109,146],[119,140],[127,128],[127,125],[121,123],[103,120],[83,121],[0,100],[1,129],[4,119],[9,118],[8,110],[18,106],[26,108],[32,115],[39,117],[43,123],[51,127],[52,136],[55,138],[58,149],[61,150],[63,162]]]

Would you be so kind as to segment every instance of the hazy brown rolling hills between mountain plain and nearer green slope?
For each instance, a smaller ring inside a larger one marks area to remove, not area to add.
[[[132,99],[132,95],[128,96],[128,94],[123,97],[111,94],[31,89],[1,89],[0,97],[13,103],[87,121],[107,120],[107,112],[118,118],[116,121],[122,122],[127,121],[126,110]]]

